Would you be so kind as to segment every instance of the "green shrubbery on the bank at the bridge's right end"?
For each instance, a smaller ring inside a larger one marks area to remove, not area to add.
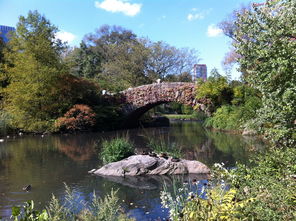
[[[244,83],[228,83],[225,78],[220,78],[212,77],[197,85],[197,98],[210,99],[214,104],[213,114],[206,119],[205,126],[243,130],[261,107],[260,93]]]

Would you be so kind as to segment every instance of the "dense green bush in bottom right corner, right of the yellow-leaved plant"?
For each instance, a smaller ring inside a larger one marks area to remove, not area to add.
[[[251,160],[253,167],[239,164],[230,182],[238,199],[254,198],[240,218],[293,220],[296,217],[296,149],[272,149]]]

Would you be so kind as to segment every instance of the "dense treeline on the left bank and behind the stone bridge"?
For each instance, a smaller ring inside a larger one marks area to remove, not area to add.
[[[198,61],[194,50],[141,39],[118,26],[102,26],[75,48],[57,39],[57,32],[30,11],[20,16],[7,44],[1,39],[2,125],[30,132],[99,129],[108,119],[112,127],[119,107],[102,90],[118,92],[157,79],[191,81]]]

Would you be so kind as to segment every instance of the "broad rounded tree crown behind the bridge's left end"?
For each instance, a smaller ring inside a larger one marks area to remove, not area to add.
[[[147,82],[148,49],[120,26],[104,25],[88,34],[67,59],[73,75],[95,79],[104,89],[120,91]]]

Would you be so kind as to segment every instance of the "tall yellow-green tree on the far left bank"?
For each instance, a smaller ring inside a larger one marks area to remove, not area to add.
[[[16,32],[8,44],[5,58],[13,64],[7,69],[10,84],[5,89],[5,109],[12,124],[28,131],[47,130],[64,110],[57,100],[64,45],[56,39],[58,29],[37,11],[20,16]],[[52,120],[52,121],[51,121]]]

